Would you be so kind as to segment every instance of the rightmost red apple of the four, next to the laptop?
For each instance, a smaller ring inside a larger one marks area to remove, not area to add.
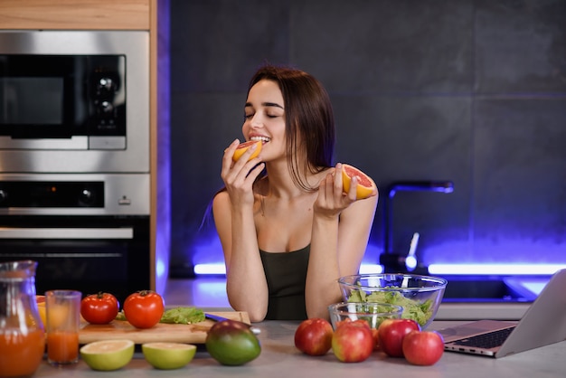
[[[410,364],[436,364],[444,353],[444,339],[434,331],[412,331],[403,338],[403,354]]]

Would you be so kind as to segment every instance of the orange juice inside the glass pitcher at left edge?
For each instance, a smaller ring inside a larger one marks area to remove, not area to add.
[[[0,376],[32,375],[42,362],[45,333],[42,329],[23,334],[19,330],[0,332]]]

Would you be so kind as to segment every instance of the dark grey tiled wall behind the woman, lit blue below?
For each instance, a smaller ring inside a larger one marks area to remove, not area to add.
[[[177,270],[208,253],[203,213],[263,61],[330,92],[337,160],[381,189],[370,260],[391,183],[451,180],[395,196],[392,250],[420,232],[428,262],[566,262],[565,1],[171,0]]]

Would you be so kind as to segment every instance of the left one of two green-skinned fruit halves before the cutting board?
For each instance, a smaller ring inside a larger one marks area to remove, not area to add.
[[[133,356],[134,342],[131,340],[95,341],[80,348],[80,358],[93,370],[118,370]]]

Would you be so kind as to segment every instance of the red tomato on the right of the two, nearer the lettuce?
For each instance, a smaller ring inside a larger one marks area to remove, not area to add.
[[[124,316],[137,328],[155,326],[163,317],[164,311],[165,302],[155,291],[138,291],[130,294],[124,301]]]

